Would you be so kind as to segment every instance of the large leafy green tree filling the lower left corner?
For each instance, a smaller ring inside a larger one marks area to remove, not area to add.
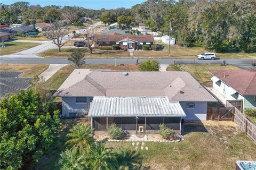
[[[38,162],[60,126],[59,111],[42,113],[41,98],[29,89],[0,101],[0,168],[18,169]]]

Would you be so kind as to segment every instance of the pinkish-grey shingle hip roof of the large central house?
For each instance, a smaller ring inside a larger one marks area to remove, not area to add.
[[[55,96],[167,97],[171,101],[217,101],[187,72],[76,69]],[[73,80],[74,79],[74,80]]]

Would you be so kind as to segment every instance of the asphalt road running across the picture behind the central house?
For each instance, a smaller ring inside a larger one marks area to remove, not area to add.
[[[147,60],[140,58],[139,62]],[[188,59],[156,59],[160,64],[223,64],[223,60],[198,60],[195,58]],[[252,67],[253,59],[226,59],[226,64],[235,65],[241,69],[255,70]],[[115,64],[115,58],[86,58],[87,64]],[[1,64],[70,64],[67,58],[43,58],[43,57],[0,57]],[[117,64],[135,64],[136,58],[117,58]]]

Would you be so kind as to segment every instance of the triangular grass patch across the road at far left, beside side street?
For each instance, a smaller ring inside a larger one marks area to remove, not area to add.
[[[21,42],[5,42],[4,55],[9,55],[12,53],[17,53],[22,50],[34,47],[40,43],[21,43]],[[0,48],[0,54],[3,55],[2,48]]]

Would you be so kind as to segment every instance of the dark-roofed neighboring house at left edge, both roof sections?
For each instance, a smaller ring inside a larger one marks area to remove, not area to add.
[[[0,71],[0,100],[8,94],[18,94],[31,85],[31,78],[19,78],[23,72]]]

